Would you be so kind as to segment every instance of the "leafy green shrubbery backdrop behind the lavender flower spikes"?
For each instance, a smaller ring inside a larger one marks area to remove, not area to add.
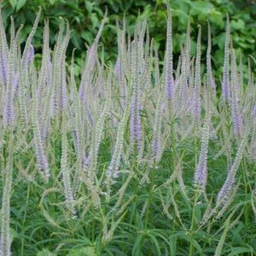
[[[102,34],[102,44],[106,50],[107,60],[113,60],[117,54],[116,26],[118,18],[122,20],[125,15],[128,31],[134,30],[138,13],[140,19],[148,20],[151,38],[154,38],[160,48],[160,57],[164,55],[166,38],[166,1],[164,0],[3,0],[3,18],[5,26],[9,30],[9,16],[13,15],[15,24],[24,24],[20,40],[25,41],[31,31],[32,22],[42,6],[41,21],[49,19],[50,44],[54,45],[59,29],[59,16],[63,16],[72,28],[71,41],[67,50],[67,56],[71,56],[72,49],[76,52],[77,60],[84,55],[84,44],[92,44],[96,36],[100,21],[104,15],[104,9],[108,9],[108,23]],[[226,14],[230,15],[230,26],[234,47],[241,49],[244,55],[251,55],[256,49],[256,1],[255,0],[172,0],[173,16],[173,48],[174,58],[177,61],[177,53],[180,45],[184,43],[183,33],[190,19],[192,25],[192,54],[195,55],[195,39],[197,25],[202,26],[202,44],[207,45],[207,20],[212,26],[212,60],[215,71],[220,73],[221,60],[224,55],[224,26]],[[36,49],[42,46],[43,26],[33,40]],[[111,36],[109,36],[111,35]],[[255,56],[254,56],[255,57]],[[247,61],[247,60],[244,60]]]

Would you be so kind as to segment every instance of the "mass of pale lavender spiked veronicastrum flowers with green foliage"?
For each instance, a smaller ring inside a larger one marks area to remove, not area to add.
[[[35,67],[39,17],[21,49],[22,26],[7,40],[0,15],[0,255],[254,255],[256,87],[229,17],[220,81],[210,24],[207,55],[200,25],[190,54],[188,24],[173,66],[169,4],[162,72],[146,20],[133,35],[118,21],[117,61],[104,62],[107,12],[80,78],[63,18],[54,49],[44,20]]]

